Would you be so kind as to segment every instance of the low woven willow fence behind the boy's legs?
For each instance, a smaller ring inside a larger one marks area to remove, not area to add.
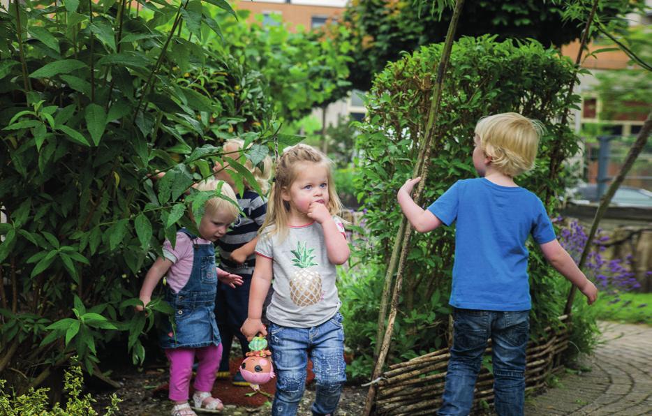
[[[566,322],[568,315],[559,317]],[[527,348],[526,390],[542,387],[547,376],[560,364],[561,352],[568,347],[568,329],[547,327],[545,336],[530,341]],[[485,354],[491,355],[491,341]],[[430,352],[394,364],[381,375],[376,396],[377,415],[433,415],[441,404],[444,378],[448,365],[448,348]],[[494,377],[482,366],[475,383],[474,407],[481,401],[494,400]]]

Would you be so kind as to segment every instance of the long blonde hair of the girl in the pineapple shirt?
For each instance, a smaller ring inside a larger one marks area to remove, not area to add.
[[[259,232],[269,232],[270,235],[279,235],[281,240],[288,235],[288,221],[290,218],[290,204],[283,200],[282,191],[289,190],[292,183],[299,176],[300,163],[316,163],[325,166],[328,182],[328,205],[331,215],[339,215],[342,211],[342,202],[335,191],[332,175],[332,161],[322,152],[307,144],[296,144],[288,147],[276,160],[276,174],[272,184],[272,193],[267,202],[267,215],[265,223]],[[269,225],[272,227],[265,230]]]

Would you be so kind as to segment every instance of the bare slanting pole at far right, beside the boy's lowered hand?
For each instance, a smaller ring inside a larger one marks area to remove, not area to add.
[[[612,198],[614,198],[614,194],[616,193],[616,190],[618,189],[619,186],[621,186],[623,180],[625,179],[625,176],[632,168],[632,165],[634,165],[634,162],[636,161],[641,151],[643,151],[643,148],[645,147],[645,144],[647,143],[648,138],[650,136],[651,129],[652,129],[652,112],[649,112],[648,117],[645,120],[645,123],[643,124],[643,128],[641,128],[641,131],[639,131],[639,135],[637,135],[636,141],[630,148],[630,151],[627,154],[627,158],[625,158],[625,163],[623,163],[623,167],[621,168],[621,171],[618,172],[618,176],[616,176],[616,179],[614,179],[612,184],[609,186],[607,193],[605,193],[605,196],[603,196],[602,200],[600,200],[600,205],[598,206],[598,210],[595,211],[595,217],[593,217],[593,224],[591,224],[591,231],[588,232],[588,237],[586,238],[586,245],[584,246],[584,250],[582,250],[581,252],[581,257],[579,258],[579,264],[577,265],[577,267],[579,267],[580,269],[584,266],[584,263],[586,262],[586,258],[588,258],[588,251],[591,250],[591,242],[593,242],[593,237],[595,237],[595,232],[598,231],[598,224],[600,224],[600,220],[602,219],[602,216],[605,215],[605,212],[609,207],[609,202],[612,202]],[[564,308],[564,313],[567,315],[570,314],[570,311],[572,309],[572,302],[573,299],[575,298],[576,291],[577,291],[577,287],[575,285],[572,285],[570,291],[568,292],[568,299],[566,299],[566,306]]]

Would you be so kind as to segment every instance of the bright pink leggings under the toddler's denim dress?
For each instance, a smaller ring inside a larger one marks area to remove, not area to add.
[[[202,348],[166,348],[165,355],[170,360],[170,400],[188,400],[195,356],[199,366],[193,387],[200,392],[213,389],[215,372],[222,358],[222,344]]]

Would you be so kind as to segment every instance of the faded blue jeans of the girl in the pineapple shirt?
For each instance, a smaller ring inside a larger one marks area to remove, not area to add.
[[[276,394],[272,416],[296,415],[306,387],[308,354],[313,362],[317,384],[313,415],[333,415],[346,381],[344,329],[338,312],[321,325],[310,328],[268,328],[276,371]]]

